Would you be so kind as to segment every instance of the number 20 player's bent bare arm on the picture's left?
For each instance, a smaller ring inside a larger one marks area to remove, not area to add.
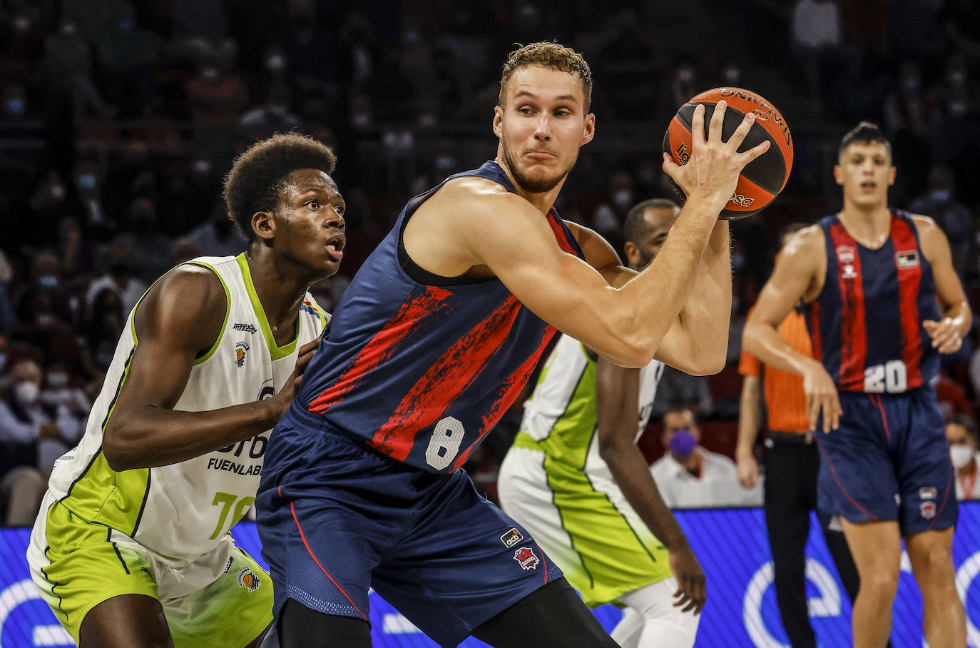
[[[797,232],[780,251],[776,267],[762,286],[759,300],[742,331],[742,348],[764,364],[803,376],[810,429],[823,412],[823,431],[837,429],[841,404],[837,386],[819,360],[796,351],[779,334],[779,324],[797,302],[815,297],[820,276],[818,259],[826,256],[823,232],[812,225]]]

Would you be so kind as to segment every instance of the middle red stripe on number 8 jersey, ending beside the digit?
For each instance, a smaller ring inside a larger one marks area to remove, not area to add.
[[[470,328],[418,379],[368,445],[405,461],[419,430],[445,415],[457,395],[466,390],[504,344],[521,308],[517,298],[508,295],[500,306]]]

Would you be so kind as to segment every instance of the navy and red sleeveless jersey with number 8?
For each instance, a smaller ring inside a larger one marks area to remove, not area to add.
[[[496,162],[443,183],[467,175],[515,190]],[[294,407],[393,459],[452,473],[514,402],[555,328],[497,278],[440,277],[409,259],[405,225],[441,186],[409,201],[355,275]],[[584,258],[554,208],[545,218],[562,249]]]

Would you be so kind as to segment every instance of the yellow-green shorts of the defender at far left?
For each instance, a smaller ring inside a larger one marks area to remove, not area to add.
[[[211,553],[174,568],[57,501],[45,498],[41,510],[47,515],[34,524],[27,549],[30,575],[75,643],[85,615],[123,594],[160,601],[175,648],[242,648],[272,622],[272,579],[230,535]]]

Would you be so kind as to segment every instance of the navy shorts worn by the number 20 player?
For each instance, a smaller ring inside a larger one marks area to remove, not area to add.
[[[956,524],[956,484],[936,392],[838,393],[840,427],[816,433],[818,508],[852,523],[894,520],[903,535]]]

